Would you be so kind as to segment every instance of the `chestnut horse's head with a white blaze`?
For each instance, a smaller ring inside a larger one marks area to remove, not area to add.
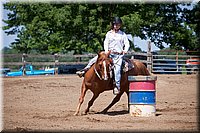
[[[95,73],[102,80],[108,80],[111,78],[111,67],[112,67],[112,59],[109,58],[110,53],[99,52],[98,59],[95,64]]]

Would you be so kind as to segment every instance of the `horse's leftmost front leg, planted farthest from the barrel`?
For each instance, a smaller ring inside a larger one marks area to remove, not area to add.
[[[83,103],[84,101],[84,97],[85,97],[85,94],[86,94],[86,87],[85,87],[85,83],[83,81],[82,83],[82,87],[81,87],[81,96],[79,98],[79,103],[78,103],[78,106],[77,106],[77,109],[76,109],[76,112],[74,113],[74,115],[78,115],[79,111],[80,111],[80,108],[81,108],[81,104]]]

